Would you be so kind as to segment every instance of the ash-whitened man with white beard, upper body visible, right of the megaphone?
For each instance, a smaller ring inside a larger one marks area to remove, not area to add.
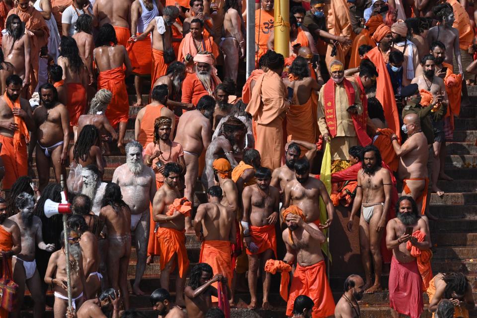
[[[83,179],[81,194],[84,194],[91,199],[91,202],[93,203],[91,211],[93,211],[95,215],[99,215],[101,201],[103,200],[104,190],[106,189],[107,183],[101,182],[98,167],[94,164],[83,167],[81,169],[81,177]]]

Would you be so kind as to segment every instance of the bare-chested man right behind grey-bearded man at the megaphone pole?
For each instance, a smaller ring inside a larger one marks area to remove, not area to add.
[[[100,262],[98,239],[89,230],[82,215],[72,215],[68,219],[68,227],[77,231],[81,236],[79,246],[83,256],[84,276],[86,277],[84,296],[86,299],[96,298],[96,294],[101,290],[102,279],[102,275],[98,272]]]

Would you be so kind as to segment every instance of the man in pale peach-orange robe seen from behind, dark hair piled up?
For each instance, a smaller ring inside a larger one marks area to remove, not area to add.
[[[269,71],[255,82],[245,111],[252,115],[256,132],[255,149],[264,167],[274,170],[281,166],[283,156],[283,120],[290,106],[287,89],[281,79],[285,61],[281,54],[268,53]]]

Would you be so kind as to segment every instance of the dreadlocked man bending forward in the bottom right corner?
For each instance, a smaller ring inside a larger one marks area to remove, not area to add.
[[[448,299],[454,305],[454,317],[469,318],[469,311],[476,306],[472,296],[472,286],[463,273],[439,273],[429,282],[429,311],[434,313],[439,302]],[[440,316],[440,315],[439,315]]]

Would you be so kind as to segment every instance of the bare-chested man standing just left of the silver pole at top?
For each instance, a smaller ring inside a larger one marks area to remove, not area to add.
[[[224,54],[224,78],[235,82],[239,72],[239,59],[245,57],[241,3],[241,1],[225,1],[224,37],[220,43],[220,49]]]

